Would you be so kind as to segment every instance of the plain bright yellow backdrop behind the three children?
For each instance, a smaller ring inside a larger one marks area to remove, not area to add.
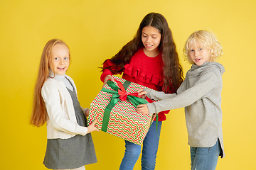
[[[183,71],[183,44],[195,30],[211,30],[225,54],[223,74],[224,159],[217,169],[256,169],[255,0],[44,0],[0,1],[1,140],[0,169],[46,169],[46,125],[28,124],[33,86],[46,42],[60,38],[70,47],[67,72],[75,80],[83,107],[102,87],[101,64],[131,40],[149,12],[166,17],[174,34]],[[98,162],[90,169],[118,169],[124,141],[93,132]],[[134,169],[140,169],[138,161]],[[190,169],[183,108],[163,123],[156,170]]]

